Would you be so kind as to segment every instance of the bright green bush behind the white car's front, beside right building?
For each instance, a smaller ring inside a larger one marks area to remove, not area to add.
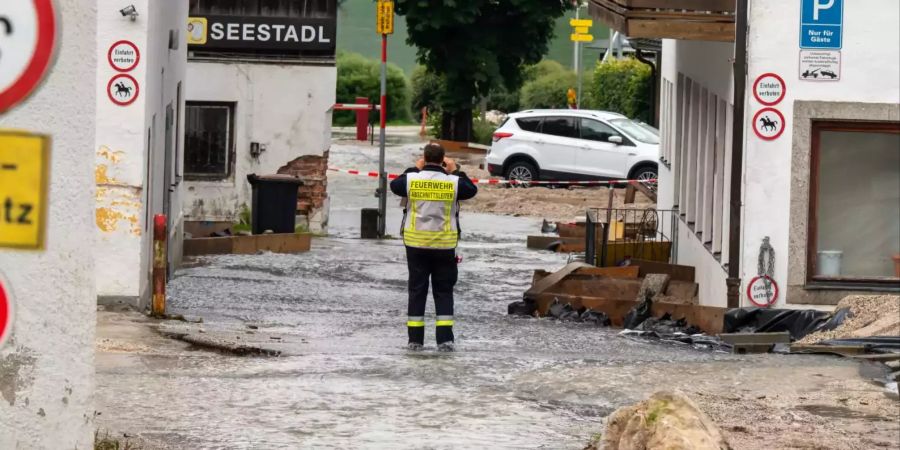
[[[597,63],[588,89],[591,108],[650,122],[653,79],[650,67],[634,59]]]

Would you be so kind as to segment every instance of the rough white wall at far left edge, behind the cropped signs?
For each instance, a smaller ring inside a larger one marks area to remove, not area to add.
[[[96,294],[91,246],[97,70],[96,3],[54,2],[56,64],[0,127],[52,136],[46,249],[0,249],[17,299],[12,340],[0,350],[0,448],[93,447]]]

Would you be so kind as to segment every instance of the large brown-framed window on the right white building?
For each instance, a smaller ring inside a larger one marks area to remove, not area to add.
[[[900,254],[900,122],[814,121],[812,281],[890,282]]]

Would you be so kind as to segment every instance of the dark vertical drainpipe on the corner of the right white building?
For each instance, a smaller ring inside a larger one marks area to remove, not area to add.
[[[728,222],[728,307],[740,306],[741,182],[744,172],[744,98],[747,90],[747,5],[736,0],[734,14],[734,124],[731,141],[731,195]]]

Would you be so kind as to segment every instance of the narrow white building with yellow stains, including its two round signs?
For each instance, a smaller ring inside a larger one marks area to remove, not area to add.
[[[154,215],[167,217],[169,267],[181,260],[187,8],[186,0],[97,3],[100,303],[149,304]]]

